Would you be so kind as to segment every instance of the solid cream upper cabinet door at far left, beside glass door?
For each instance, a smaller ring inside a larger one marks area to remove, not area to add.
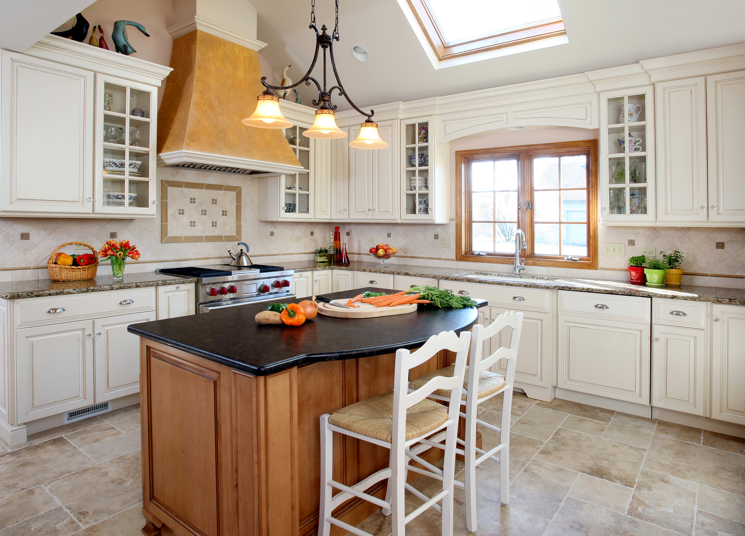
[[[3,51],[2,210],[92,212],[93,76]]]

